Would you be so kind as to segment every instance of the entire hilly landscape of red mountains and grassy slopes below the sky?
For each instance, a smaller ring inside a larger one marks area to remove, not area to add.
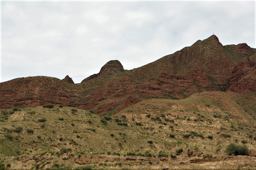
[[[0,83],[0,169],[255,169],[256,49],[216,35],[145,66],[118,60]]]

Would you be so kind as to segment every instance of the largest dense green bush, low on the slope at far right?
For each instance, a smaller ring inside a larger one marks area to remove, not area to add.
[[[230,143],[226,147],[226,152],[228,155],[248,155],[248,148],[246,145],[236,145],[234,143]]]

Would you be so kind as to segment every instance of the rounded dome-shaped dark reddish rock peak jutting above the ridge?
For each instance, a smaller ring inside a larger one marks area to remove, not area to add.
[[[99,72],[99,76],[113,75],[124,71],[123,65],[118,60],[110,60]]]

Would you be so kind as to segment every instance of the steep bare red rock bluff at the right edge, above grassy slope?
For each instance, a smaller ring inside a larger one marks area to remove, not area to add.
[[[233,69],[228,81],[229,91],[256,91],[256,63],[248,57],[243,58]]]

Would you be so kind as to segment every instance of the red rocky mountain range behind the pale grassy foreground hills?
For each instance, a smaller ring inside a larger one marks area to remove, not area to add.
[[[226,88],[239,93],[255,91],[255,54],[256,49],[246,43],[223,46],[212,35],[133,70],[124,70],[118,60],[111,60],[79,84],[46,76],[0,83],[0,95],[4,96],[0,108],[53,103],[113,114],[152,98],[184,99]]]

